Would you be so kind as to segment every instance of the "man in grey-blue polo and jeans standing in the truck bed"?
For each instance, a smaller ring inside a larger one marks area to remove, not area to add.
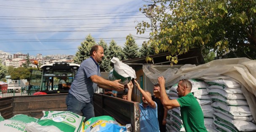
[[[79,114],[81,111],[85,120],[94,117],[93,93],[97,86],[115,91],[123,91],[124,85],[120,80],[109,81],[101,78],[99,62],[104,57],[104,50],[100,45],[94,45],[90,50],[91,57],[84,60],[77,70],[66,98],[67,111]]]

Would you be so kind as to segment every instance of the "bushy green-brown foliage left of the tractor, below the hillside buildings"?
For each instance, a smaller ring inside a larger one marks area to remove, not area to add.
[[[29,80],[30,72],[26,67],[8,67],[8,74],[11,75],[12,80],[27,79]]]

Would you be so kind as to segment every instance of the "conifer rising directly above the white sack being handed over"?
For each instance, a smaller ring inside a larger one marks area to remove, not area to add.
[[[109,58],[117,57],[119,60],[124,60],[122,48],[112,39],[109,43]]]

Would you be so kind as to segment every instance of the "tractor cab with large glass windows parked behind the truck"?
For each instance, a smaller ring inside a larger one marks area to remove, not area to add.
[[[68,93],[69,88],[63,87],[61,82],[71,85],[79,66],[75,63],[55,62],[40,66],[40,70],[32,70],[28,93]]]

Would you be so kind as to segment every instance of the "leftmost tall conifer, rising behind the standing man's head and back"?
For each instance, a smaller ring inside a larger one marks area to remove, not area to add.
[[[89,34],[86,36],[85,40],[81,42],[81,46],[78,46],[78,51],[75,54],[74,62],[77,64],[81,64],[83,60],[89,58],[90,50],[93,45],[95,45],[96,42],[94,38]]]

